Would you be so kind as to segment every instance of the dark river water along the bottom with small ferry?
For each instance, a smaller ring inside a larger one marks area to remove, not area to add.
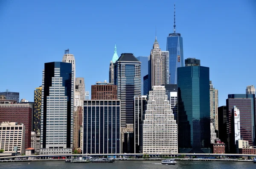
[[[253,162],[177,161],[175,166],[161,161],[115,161],[114,163],[65,163],[33,161],[0,163],[0,169],[256,169]]]

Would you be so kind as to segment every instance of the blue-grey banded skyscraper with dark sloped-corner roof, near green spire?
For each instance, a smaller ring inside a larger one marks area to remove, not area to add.
[[[141,95],[141,62],[133,54],[121,54],[114,65],[114,85],[121,100],[121,127],[134,124],[134,96]]]

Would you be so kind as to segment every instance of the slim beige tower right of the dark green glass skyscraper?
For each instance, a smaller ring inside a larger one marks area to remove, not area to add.
[[[210,81],[210,118],[215,130],[218,130],[218,89]]]

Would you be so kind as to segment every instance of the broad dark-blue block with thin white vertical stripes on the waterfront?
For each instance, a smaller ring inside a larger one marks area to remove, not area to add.
[[[120,153],[120,101],[84,101],[83,153]]]

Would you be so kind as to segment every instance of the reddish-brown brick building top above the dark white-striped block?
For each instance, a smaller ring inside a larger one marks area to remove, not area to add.
[[[91,92],[92,100],[117,100],[117,86],[113,83],[96,82],[92,85]]]

